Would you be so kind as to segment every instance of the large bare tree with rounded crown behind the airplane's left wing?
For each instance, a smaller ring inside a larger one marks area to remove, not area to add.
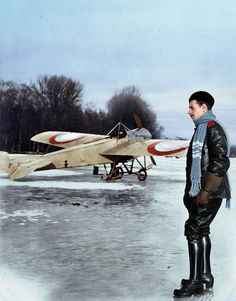
[[[82,120],[83,85],[65,76],[42,76],[34,86],[39,99],[42,130],[66,130]],[[71,113],[77,113],[77,118]]]

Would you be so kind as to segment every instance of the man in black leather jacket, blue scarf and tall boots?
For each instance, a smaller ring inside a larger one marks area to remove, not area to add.
[[[222,199],[230,198],[227,170],[230,165],[229,145],[223,127],[212,113],[214,98],[205,91],[189,98],[188,114],[195,123],[195,132],[187,153],[184,204],[189,218],[185,223],[188,241],[189,279],[174,290],[175,297],[201,294],[212,289],[214,277],[210,266],[210,224]]]

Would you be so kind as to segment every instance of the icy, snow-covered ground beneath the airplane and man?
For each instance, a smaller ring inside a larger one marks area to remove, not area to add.
[[[1,301],[170,301],[188,277],[185,159],[161,158],[145,182],[92,168],[0,174]],[[212,224],[214,293],[236,301],[236,159],[231,209]]]

